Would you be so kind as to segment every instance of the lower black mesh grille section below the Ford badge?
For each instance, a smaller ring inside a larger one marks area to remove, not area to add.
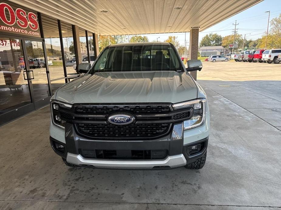
[[[96,138],[153,138],[164,135],[170,130],[170,123],[148,124],[90,124],[77,123],[79,133]]]

